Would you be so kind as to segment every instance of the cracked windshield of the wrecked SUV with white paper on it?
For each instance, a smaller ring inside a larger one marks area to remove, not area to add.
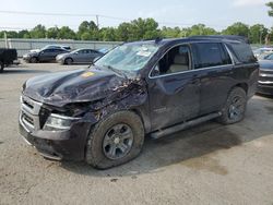
[[[138,71],[144,68],[157,50],[158,46],[152,44],[121,45],[97,60],[95,65],[122,71]]]

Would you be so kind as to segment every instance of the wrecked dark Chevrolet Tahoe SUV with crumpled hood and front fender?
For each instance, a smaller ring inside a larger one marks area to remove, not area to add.
[[[23,85],[20,132],[46,158],[98,169],[136,157],[153,138],[217,119],[244,119],[259,64],[242,37],[199,36],[118,46],[87,70]]]

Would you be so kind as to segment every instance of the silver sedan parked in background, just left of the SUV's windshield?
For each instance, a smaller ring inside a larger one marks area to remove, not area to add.
[[[94,59],[103,53],[93,49],[76,49],[69,53],[61,53],[56,57],[56,61],[61,64],[93,63]]]

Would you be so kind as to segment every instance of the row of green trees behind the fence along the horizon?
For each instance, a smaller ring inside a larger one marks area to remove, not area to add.
[[[268,3],[269,7],[273,2]],[[273,13],[272,13],[273,14]],[[214,28],[204,24],[192,25],[191,27],[166,27],[158,28],[158,23],[153,19],[136,19],[131,22],[123,22],[118,27],[97,27],[94,21],[83,21],[74,32],[68,26],[49,27],[37,25],[31,31],[9,32],[8,38],[54,38],[54,39],[81,39],[81,40],[104,40],[104,41],[134,41],[141,39],[180,38],[198,35],[239,35],[249,37],[252,44],[264,43],[266,37],[273,38],[273,32],[270,32],[264,25],[256,24],[248,26],[237,22],[228,26],[223,32],[216,32]],[[4,32],[0,32],[0,38],[4,37]]]

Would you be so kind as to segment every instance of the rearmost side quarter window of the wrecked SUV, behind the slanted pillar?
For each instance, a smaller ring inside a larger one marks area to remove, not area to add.
[[[228,43],[227,47],[233,51],[235,57],[244,63],[257,62],[257,59],[248,44]]]

